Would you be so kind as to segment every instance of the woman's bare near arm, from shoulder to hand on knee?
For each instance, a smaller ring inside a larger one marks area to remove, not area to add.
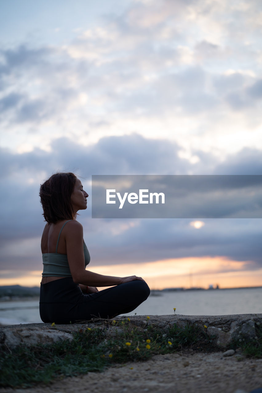
[[[116,277],[85,270],[83,227],[77,221],[70,221],[68,224],[65,226],[66,253],[70,272],[75,283],[88,286],[113,286],[134,280],[144,281],[141,277],[135,275]]]

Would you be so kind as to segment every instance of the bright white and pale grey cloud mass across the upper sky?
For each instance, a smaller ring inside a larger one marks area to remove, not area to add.
[[[261,73],[252,20],[260,9],[255,2],[131,2],[62,46],[7,47],[0,54],[4,145],[48,150],[61,136],[87,144],[135,131],[163,132],[188,149],[206,143],[207,151],[215,140],[220,152],[235,152],[247,135],[257,147]],[[233,147],[227,139],[239,129]],[[17,134],[11,144],[8,135]]]

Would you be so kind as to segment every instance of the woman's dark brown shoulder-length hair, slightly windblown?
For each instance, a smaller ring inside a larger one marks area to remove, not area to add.
[[[55,173],[40,185],[40,200],[48,224],[59,220],[75,220],[71,195],[76,184],[74,173]]]

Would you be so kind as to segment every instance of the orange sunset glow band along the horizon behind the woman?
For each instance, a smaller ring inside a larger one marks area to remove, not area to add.
[[[226,257],[192,257],[165,259],[155,262],[90,266],[90,270],[104,275],[143,277],[151,289],[220,288],[262,286],[262,268],[247,270],[253,262],[232,261]],[[2,278],[0,285],[40,286],[42,271],[25,272],[21,277]],[[101,289],[101,288],[100,288]]]

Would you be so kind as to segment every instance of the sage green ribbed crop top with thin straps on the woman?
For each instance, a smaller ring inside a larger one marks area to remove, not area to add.
[[[72,220],[68,220],[68,221],[72,221]],[[55,252],[42,254],[43,265],[44,265],[42,277],[72,277],[70,273],[67,255],[57,253],[57,247],[58,247],[60,235],[65,224],[62,226],[61,231],[59,232]],[[85,256],[85,266],[87,266],[90,262],[90,254],[85,242],[83,243],[83,247],[84,247],[84,256]]]

